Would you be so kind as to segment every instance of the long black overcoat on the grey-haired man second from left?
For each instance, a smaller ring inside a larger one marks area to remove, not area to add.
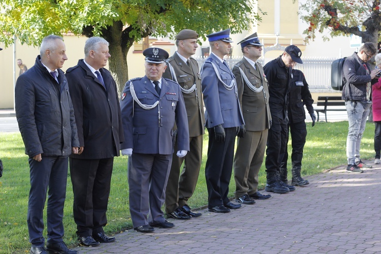
[[[66,71],[78,128],[81,154],[72,158],[101,159],[119,156],[123,142],[119,96],[110,72],[99,69],[106,86],[94,76],[83,59]]]

